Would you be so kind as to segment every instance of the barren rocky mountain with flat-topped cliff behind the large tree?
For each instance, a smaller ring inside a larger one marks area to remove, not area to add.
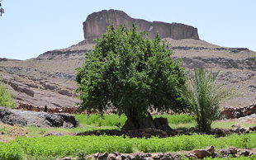
[[[2,82],[8,83],[8,89],[15,94],[17,102],[48,107],[74,106],[79,102],[78,95],[73,95],[77,87],[75,68],[82,66],[84,54],[92,50],[92,39],[106,30],[108,19],[115,25],[137,21],[140,29],[151,31],[149,36],[159,31],[161,37],[172,45],[175,53],[173,59],[183,59],[183,67],[187,69],[203,66],[213,69],[213,72],[220,70],[220,83],[244,93],[244,97],[227,101],[221,106],[237,107],[255,103],[256,65],[251,56],[256,54],[254,51],[220,47],[199,40],[197,28],[192,26],[133,19],[125,12],[116,10],[89,15],[83,22],[85,40],[77,45],[47,51],[34,59],[0,59]]]

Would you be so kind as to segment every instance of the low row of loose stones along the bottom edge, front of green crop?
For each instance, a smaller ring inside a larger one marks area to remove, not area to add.
[[[121,154],[118,152],[113,153],[95,153],[85,159],[95,159],[95,160],[180,160],[182,157],[188,159],[201,159],[201,158],[227,158],[227,157],[249,157],[253,156],[255,153],[248,150],[239,150],[235,147],[230,147],[227,149],[215,150],[214,146],[209,146],[206,149],[197,149],[194,151],[187,151],[184,155],[181,153],[130,153],[130,154]],[[73,159],[73,158],[72,158]],[[71,158],[66,157],[61,160],[71,160]]]

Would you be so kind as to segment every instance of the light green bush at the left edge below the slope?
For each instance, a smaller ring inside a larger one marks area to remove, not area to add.
[[[4,86],[2,80],[0,81],[0,106],[7,106],[9,108],[17,106],[14,95],[8,92],[7,85]]]

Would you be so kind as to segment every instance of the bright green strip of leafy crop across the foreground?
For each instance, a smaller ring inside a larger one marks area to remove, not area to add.
[[[246,139],[246,142],[244,141]],[[0,159],[56,159],[80,157],[92,153],[166,153],[215,146],[216,149],[256,148],[256,134],[232,134],[216,139],[213,135],[181,135],[159,139],[126,139],[118,136],[49,136],[40,138],[17,138],[0,144]]]

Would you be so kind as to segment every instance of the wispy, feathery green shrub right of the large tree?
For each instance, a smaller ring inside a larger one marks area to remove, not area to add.
[[[220,103],[241,94],[235,92],[235,88],[225,89],[218,83],[220,71],[213,75],[205,68],[194,68],[190,76],[191,84],[184,88],[183,96],[196,115],[197,127],[206,132],[211,129],[213,120],[220,117]]]

